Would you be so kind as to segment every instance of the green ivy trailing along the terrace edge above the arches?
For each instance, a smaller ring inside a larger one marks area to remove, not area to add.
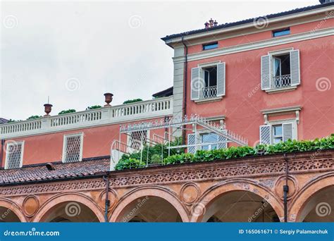
[[[197,151],[196,154],[173,154],[166,157],[161,162],[162,165],[171,165],[179,163],[192,163],[215,161],[225,159],[236,159],[245,156],[261,156],[268,154],[280,154],[291,152],[309,152],[321,151],[323,149],[334,149],[334,134],[330,137],[325,137],[315,140],[288,140],[287,142],[280,142],[278,144],[259,144],[256,147],[230,147],[227,149],[215,149],[210,151]],[[129,156],[124,154],[116,165],[116,170],[123,170],[129,168],[143,168],[146,163],[140,162],[136,156]]]

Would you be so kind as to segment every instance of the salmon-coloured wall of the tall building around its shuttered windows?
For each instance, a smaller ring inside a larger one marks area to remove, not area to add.
[[[261,90],[261,56],[268,51],[299,49],[301,85],[290,92],[268,94]],[[334,87],[320,91],[316,80],[334,84],[334,37],[321,37],[277,47],[244,51],[188,63],[187,114],[201,116],[225,115],[229,130],[249,140],[249,145],[259,141],[259,125],[264,125],[261,110],[287,106],[302,106],[298,139],[323,137],[334,132]],[[226,90],[221,101],[197,104],[190,100],[191,69],[198,64],[222,61],[226,65]],[[282,116],[282,119],[287,118]],[[278,117],[275,117],[278,119]]]

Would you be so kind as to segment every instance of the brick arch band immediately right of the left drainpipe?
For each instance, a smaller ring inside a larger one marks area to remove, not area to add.
[[[109,221],[120,222],[122,211],[124,211],[129,204],[137,199],[140,199],[141,197],[147,196],[160,197],[166,200],[176,209],[176,211],[178,211],[178,214],[180,215],[183,222],[189,222],[189,216],[186,211],[187,209],[185,209],[183,203],[180,202],[178,196],[168,188],[160,186],[137,187],[134,190],[126,193],[123,197],[120,198],[118,204],[116,204],[116,207],[111,212]]]

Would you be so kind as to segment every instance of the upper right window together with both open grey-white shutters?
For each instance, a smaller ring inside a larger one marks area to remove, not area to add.
[[[299,50],[284,49],[261,56],[261,89],[279,92],[300,85]]]

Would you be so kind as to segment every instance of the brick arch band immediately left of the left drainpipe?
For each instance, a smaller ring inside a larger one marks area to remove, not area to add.
[[[94,200],[90,197],[87,197],[85,194],[81,194],[80,192],[66,192],[51,197],[41,206],[39,211],[37,211],[37,214],[35,214],[32,222],[43,221],[45,215],[49,211],[51,211],[53,208],[56,208],[58,204],[61,204],[63,202],[78,202],[80,204],[83,204],[87,206],[97,216],[100,222],[104,222],[104,215],[97,203],[94,202]]]

